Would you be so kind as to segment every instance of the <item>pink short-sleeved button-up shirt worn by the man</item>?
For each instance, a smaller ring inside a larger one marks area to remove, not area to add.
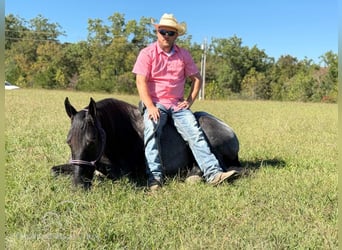
[[[168,55],[154,42],[140,51],[133,73],[146,76],[152,101],[169,109],[184,99],[186,77],[198,68],[187,50],[174,45]]]

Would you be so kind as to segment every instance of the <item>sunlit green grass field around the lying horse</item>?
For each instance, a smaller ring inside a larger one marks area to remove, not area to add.
[[[50,168],[69,158],[64,98],[5,93],[7,249],[337,249],[337,105],[197,101],[228,123],[251,174],[233,184],[170,178],[156,194],[122,179],[75,190]],[[115,96],[136,104],[136,96]]]

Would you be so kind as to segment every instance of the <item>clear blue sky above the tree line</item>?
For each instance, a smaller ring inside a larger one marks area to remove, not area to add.
[[[256,46],[279,59],[291,55],[320,63],[328,51],[338,53],[338,0],[6,0],[5,15],[29,21],[42,15],[58,23],[61,42],[86,40],[88,19],[123,14],[126,21],[172,13],[187,23],[187,35],[198,44],[237,36],[242,46]]]

